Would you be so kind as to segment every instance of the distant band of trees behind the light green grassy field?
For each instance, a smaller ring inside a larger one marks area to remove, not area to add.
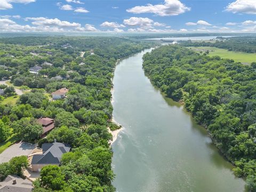
[[[255,37],[233,37],[226,40],[218,40],[215,43],[210,42],[182,42],[182,46],[211,46],[226,49],[228,51],[241,51],[245,53],[256,53]]]

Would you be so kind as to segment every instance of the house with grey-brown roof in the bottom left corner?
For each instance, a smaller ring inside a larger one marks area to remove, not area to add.
[[[0,182],[1,192],[30,192],[32,190],[32,182],[18,175],[8,175],[3,182]]]

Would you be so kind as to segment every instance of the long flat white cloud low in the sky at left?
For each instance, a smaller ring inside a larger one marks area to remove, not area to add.
[[[44,17],[39,18],[26,18],[25,20],[32,20],[32,24],[36,26],[56,26],[56,27],[81,27],[80,23],[70,23],[68,21],[61,21],[57,18],[47,19]]]

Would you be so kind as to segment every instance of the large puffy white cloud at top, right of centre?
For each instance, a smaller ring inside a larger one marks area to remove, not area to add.
[[[127,9],[130,13],[155,13],[159,16],[174,16],[186,11],[190,11],[190,7],[182,4],[179,0],[165,0],[164,4],[147,4],[146,6],[135,6]]]

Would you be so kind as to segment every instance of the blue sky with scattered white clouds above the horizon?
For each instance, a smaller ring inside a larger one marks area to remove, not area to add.
[[[255,32],[256,0],[0,0],[0,31]]]

